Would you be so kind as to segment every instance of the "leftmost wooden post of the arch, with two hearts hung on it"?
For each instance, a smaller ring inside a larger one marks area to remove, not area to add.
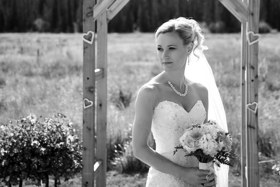
[[[95,164],[95,22],[93,0],[83,0],[83,170],[82,186],[94,186]],[[89,33],[89,31],[91,33]],[[88,33],[88,34],[87,34]],[[93,38],[92,38],[93,37]],[[93,39],[93,40],[92,40]],[[91,106],[90,106],[91,105]]]

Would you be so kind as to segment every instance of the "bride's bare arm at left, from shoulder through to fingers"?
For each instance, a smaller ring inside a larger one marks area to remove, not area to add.
[[[132,130],[134,156],[160,172],[171,174],[189,183],[198,186],[202,186],[201,183],[208,183],[206,175],[209,171],[177,165],[148,146],[157,94],[155,86],[146,85],[139,90],[137,95]]]

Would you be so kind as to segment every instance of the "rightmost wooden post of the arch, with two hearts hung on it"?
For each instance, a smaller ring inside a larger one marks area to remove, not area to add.
[[[247,33],[252,31],[258,33],[260,0],[248,0],[248,25]],[[249,35],[252,42],[255,40],[253,34]],[[247,64],[247,104],[258,103],[258,42],[248,44],[248,64]],[[257,105],[248,106],[251,109]],[[259,186],[259,166],[258,166],[258,110],[247,111],[247,170],[248,187]]]

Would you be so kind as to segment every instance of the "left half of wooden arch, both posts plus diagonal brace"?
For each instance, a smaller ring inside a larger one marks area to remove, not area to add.
[[[107,8],[111,18],[128,2],[83,0],[83,170],[82,186],[106,186]],[[117,3],[116,3],[117,2]],[[94,10],[97,13],[94,13]],[[112,11],[113,10],[113,11]],[[111,13],[111,14],[110,14]],[[97,69],[95,20],[97,19]],[[97,82],[97,138],[95,157],[95,80]],[[96,175],[95,175],[96,174]]]

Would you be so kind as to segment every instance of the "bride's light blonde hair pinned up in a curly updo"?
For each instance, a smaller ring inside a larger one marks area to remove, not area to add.
[[[197,21],[193,19],[187,19],[179,17],[177,19],[169,20],[163,23],[160,27],[155,30],[155,39],[159,34],[164,34],[167,32],[176,32],[183,41],[183,45],[186,46],[191,42],[194,44],[195,48],[202,49],[204,42],[204,35],[199,27]],[[195,55],[195,54],[194,54]],[[197,56],[197,55],[195,55]],[[198,57],[198,56],[197,56]],[[199,58],[199,57],[198,57]]]

